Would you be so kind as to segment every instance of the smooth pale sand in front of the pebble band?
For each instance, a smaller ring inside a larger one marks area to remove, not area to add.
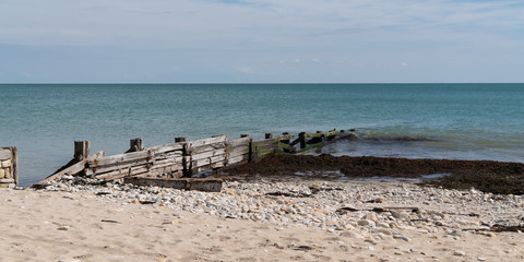
[[[0,190],[0,261],[524,261],[519,233],[456,238],[413,228],[403,231],[410,241],[377,240],[122,205],[92,192]]]

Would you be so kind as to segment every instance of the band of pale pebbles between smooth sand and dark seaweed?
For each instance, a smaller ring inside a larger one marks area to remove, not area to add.
[[[356,186],[327,181],[228,181],[224,182],[221,193],[136,187],[121,182],[99,184],[96,179],[66,176],[61,180],[51,181],[46,190],[84,191],[91,193],[85,198],[117,199],[126,204],[148,203],[156,207],[223,218],[271,222],[275,224],[276,230],[289,225],[301,225],[340,233],[341,237],[347,238],[393,237],[403,241],[412,240],[403,235],[405,230],[422,234],[445,231],[450,237],[458,238],[469,234],[466,229],[489,229],[489,225],[495,224],[520,225],[522,222],[519,217],[524,217],[524,210],[520,207],[524,206],[522,195],[496,195],[476,189],[458,191],[424,188],[412,183]],[[321,190],[312,191],[311,188]],[[270,194],[275,192],[282,195]],[[71,193],[67,196],[74,199],[75,195]],[[395,209],[388,210],[388,206]],[[373,207],[382,210],[373,212]],[[418,207],[418,212],[412,213],[412,207]],[[153,214],[151,217],[155,216]],[[177,222],[166,219],[164,223]],[[67,226],[59,227],[59,230],[68,229]],[[496,236],[491,231],[485,235]]]

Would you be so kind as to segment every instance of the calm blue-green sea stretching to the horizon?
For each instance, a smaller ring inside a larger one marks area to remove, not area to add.
[[[66,165],[74,141],[120,154],[175,138],[352,130],[333,155],[524,163],[524,84],[1,84],[0,147],[22,187]]]

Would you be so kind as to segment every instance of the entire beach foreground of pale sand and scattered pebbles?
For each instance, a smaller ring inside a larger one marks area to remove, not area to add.
[[[0,191],[0,261],[524,260],[521,231],[492,230],[522,221],[519,195],[380,182],[227,182],[219,193],[72,183]]]

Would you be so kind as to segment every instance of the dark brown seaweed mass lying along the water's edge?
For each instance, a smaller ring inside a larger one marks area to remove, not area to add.
[[[296,177],[296,172],[310,172],[301,179],[329,179],[322,171],[340,170],[346,177],[402,177],[451,174],[425,186],[446,189],[471,189],[496,194],[524,194],[524,164],[492,160],[407,159],[393,157],[350,157],[332,155],[270,154],[253,163],[228,167],[228,179],[250,176],[257,178]],[[315,176],[317,174],[317,176]]]

